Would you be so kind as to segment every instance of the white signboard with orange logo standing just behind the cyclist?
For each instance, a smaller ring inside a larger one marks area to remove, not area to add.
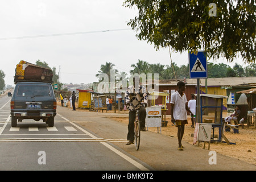
[[[162,127],[161,106],[146,107],[146,127]]]

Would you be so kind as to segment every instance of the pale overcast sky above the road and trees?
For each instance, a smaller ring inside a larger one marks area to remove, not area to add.
[[[45,61],[56,68],[64,84],[98,81],[95,75],[106,62],[126,73],[138,60],[170,65],[168,48],[156,51],[154,44],[138,40],[127,26],[137,14],[122,0],[0,0],[0,69],[5,84],[14,85],[20,60]],[[178,66],[188,64],[188,52],[171,49],[171,58]],[[208,62],[245,66],[240,59]]]

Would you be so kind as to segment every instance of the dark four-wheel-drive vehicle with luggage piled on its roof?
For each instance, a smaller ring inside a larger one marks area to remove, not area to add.
[[[54,126],[57,102],[52,88],[52,70],[20,61],[16,65],[14,82],[16,84],[11,98],[11,126],[17,120],[34,119]],[[11,97],[11,93],[8,93]]]

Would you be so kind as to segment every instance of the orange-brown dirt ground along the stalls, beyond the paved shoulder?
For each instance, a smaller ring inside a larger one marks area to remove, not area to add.
[[[60,103],[58,102],[58,105]],[[71,107],[68,107],[72,109]],[[79,111],[87,111],[88,109],[77,109]],[[104,111],[105,113],[106,111]],[[114,113],[114,110],[108,111],[108,113]],[[116,111],[118,113],[118,110]],[[126,114],[127,117],[111,117],[112,119],[128,124],[128,111],[119,111],[120,114]],[[225,114],[224,114],[225,115]],[[166,120],[168,124],[166,127],[162,127],[162,134],[170,137],[177,138],[177,127],[172,125],[171,117],[168,115]],[[193,144],[193,137],[191,134],[194,133],[194,128],[191,127],[191,118],[188,116],[188,125],[185,125],[185,131],[183,136],[183,142],[188,142],[189,144]],[[148,127],[148,131],[158,133],[157,127]],[[160,131],[160,130],[159,130]],[[215,131],[217,133],[217,130]],[[256,130],[254,126],[239,126],[239,132],[234,133],[233,129],[230,129],[230,132],[225,132],[225,137],[228,138],[229,142],[235,144],[227,144],[227,143],[210,143],[210,151],[216,151],[219,154],[227,155],[232,158],[243,160],[247,163],[251,163],[256,165]],[[197,143],[196,143],[197,145]],[[200,146],[203,148],[203,143],[200,143]],[[205,148],[208,148],[208,143]]]

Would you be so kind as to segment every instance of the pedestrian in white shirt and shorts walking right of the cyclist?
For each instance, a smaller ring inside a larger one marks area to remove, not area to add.
[[[183,138],[185,124],[188,123],[187,111],[193,114],[187,106],[187,97],[185,95],[185,83],[183,81],[177,82],[177,91],[171,95],[171,119],[176,123],[177,138],[179,142],[178,150],[183,150],[181,140]]]

